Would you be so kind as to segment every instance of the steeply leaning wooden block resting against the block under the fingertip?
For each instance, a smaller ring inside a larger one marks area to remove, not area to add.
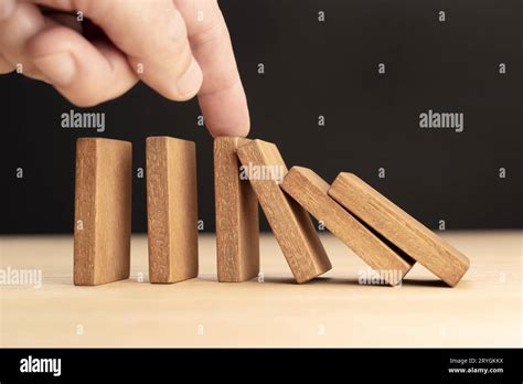
[[[331,263],[309,214],[280,189],[287,167],[278,148],[254,140],[238,147],[237,153],[296,281],[328,271]]]

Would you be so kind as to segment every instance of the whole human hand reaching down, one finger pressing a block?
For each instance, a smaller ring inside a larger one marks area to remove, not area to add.
[[[78,15],[103,33],[78,33]],[[142,81],[177,102],[198,94],[213,136],[249,130],[217,0],[0,0],[0,74],[20,65],[77,106],[116,98]]]

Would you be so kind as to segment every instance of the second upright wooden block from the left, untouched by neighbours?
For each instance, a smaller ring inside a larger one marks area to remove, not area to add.
[[[149,280],[177,282],[196,277],[195,145],[171,137],[149,137],[146,158]]]

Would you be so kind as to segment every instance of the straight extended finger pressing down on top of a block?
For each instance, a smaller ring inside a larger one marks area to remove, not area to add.
[[[250,121],[225,20],[216,0],[174,0],[203,71],[200,107],[213,136],[247,136]]]

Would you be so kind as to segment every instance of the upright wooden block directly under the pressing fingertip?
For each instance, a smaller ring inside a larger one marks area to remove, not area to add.
[[[259,273],[258,201],[247,180],[239,179],[238,137],[214,139],[216,262],[218,281],[245,281]]]

